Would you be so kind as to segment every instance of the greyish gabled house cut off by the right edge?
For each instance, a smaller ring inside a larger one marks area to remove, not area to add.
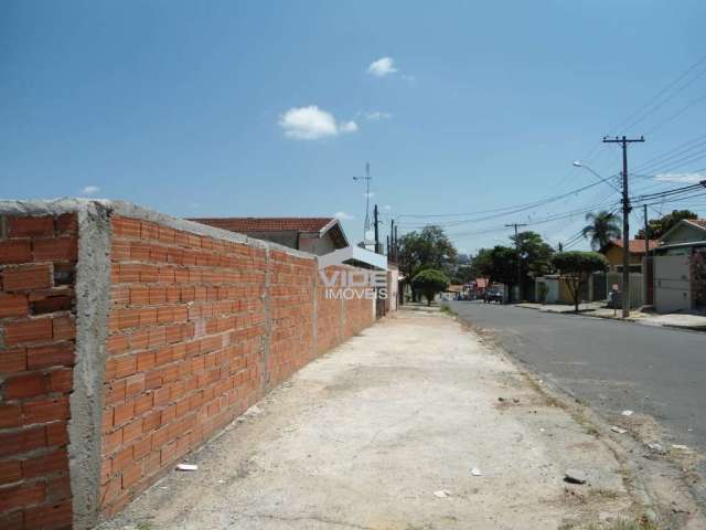
[[[656,310],[706,310],[706,219],[680,221],[654,253]]]

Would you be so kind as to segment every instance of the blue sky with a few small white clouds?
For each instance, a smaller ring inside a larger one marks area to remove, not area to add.
[[[370,162],[383,236],[437,223],[475,252],[516,222],[587,247],[586,212],[619,197],[571,162],[620,171],[605,135],[644,135],[634,193],[705,178],[704,20],[699,0],[6,0],[0,198],[338,215],[360,241]],[[682,206],[706,216],[706,197],[649,215]]]

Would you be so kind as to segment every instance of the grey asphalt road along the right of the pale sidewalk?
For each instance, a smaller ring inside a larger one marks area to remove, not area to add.
[[[706,451],[706,332],[474,301],[451,307],[603,416],[649,414],[666,443]]]

